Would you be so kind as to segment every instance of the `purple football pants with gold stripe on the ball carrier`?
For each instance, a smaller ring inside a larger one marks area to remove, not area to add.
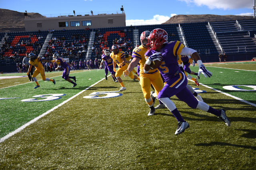
[[[170,98],[175,95],[182,102],[185,102],[189,107],[196,108],[198,101],[190,90],[186,88],[187,84],[188,79],[183,72],[180,72],[165,84],[164,88],[158,93],[158,99]]]

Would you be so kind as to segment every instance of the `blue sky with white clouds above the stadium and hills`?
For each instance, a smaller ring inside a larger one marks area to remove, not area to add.
[[[37,12],[46,17],[60,15],[116,14],[123,6],[126,25],[160,24],[174,15],[249,15],[254,0],[0,0],[0,8]],[[137,23],[137,24],[136,24]]]

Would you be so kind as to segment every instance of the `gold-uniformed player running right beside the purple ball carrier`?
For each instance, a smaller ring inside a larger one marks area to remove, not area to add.
[[[154,69],[154,70],[149,70],[148,73],[144,73],[144,64],[146,63],[146,60],[148,59],[147,57],[145,57],[145,53],[148,51],[146,44],[148,43],[147,37],[148,35],[150,35],[150,31],[144,31],[143,33],[141,33],[140,35],[140,42],[141,45],[139,47],[136,47],[133,51],[132,51],[132,62],[129,64],[127,70],[124,71],[124,76],[127,76],[128,74],[130,74],[130,72],[132,71],[132,69],[138,64],[140,63],[140,85],[142,88],[142,92],[144,94],[144,98],[146,103],[148,104],[148,106],[150,107],[150,111],[148,113],[149,116],[154,115],[155,113],[155,108],[154,108],[154,102],[156,100],[156,98],[154,98],[154,100],[152,100],[151,95],[154,94],[150,94],[150,85],[152,84],[154,86],[154,89],[156,90],[156,96],[158,94],[158,92],[160,92],[160,90],[162,90],[163,88],[163,80],[160,76],[160,72],[158,71],[158,69]]]

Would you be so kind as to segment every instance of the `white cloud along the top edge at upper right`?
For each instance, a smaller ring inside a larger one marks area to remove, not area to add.
[[[187,4],[194,3],[197,6],[208,6],[212,9],[241,9],[241,8],[252,8],[253,0],[179,0],[184,1]]]

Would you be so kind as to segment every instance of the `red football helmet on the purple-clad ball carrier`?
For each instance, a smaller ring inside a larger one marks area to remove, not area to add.
[[[148,36],[148,50],[156,50],[157,47],[168,43],[168,33],[161,28],[154,29]]]

